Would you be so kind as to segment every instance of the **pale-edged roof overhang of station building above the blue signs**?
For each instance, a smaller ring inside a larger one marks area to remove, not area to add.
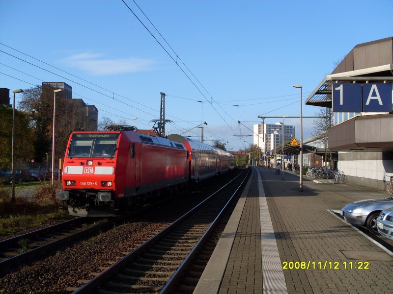
[[[332,84],[353,83],[353,81],[392,81],[393,64],[376,66],[345,73],[335,73],[325,76],[306,100],[306,105],[332,107]]]

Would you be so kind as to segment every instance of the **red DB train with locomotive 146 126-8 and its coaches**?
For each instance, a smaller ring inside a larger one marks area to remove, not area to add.
[[[57,198],[70,215],[109,216],[234,166],[233,155],[180,135],[149,136],[134,127],[74,132]]]

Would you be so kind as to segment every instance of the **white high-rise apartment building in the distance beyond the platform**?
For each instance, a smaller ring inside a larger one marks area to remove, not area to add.
[[[253,132],[253,144],[259,145],[263,152],[271,151],[275,147],[282,145],[282,123],[254,124]],[[290,141],[295,137],[295,126],[284,124],[283,133],[284,142]]]

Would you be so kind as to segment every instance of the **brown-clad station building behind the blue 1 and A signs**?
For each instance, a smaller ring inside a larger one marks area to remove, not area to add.
[[[385,190],[393,176],[392,82],[389,37],[356,45],[306,100],[333,108],[328,148],[350,183]]]

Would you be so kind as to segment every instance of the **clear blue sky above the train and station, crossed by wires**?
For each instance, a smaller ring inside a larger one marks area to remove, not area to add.
[[[354,46],[393,36],[392,0],[124,1],[161,45],[122,0],[1,0],[0,88],[64,81],[99,120],[137,117],[140,129],[159,118],[164,92],[169,133],[207,122],[205,140],[238,150],[252,132],[237,121],[252,129],[258,115],[299,116],[293,84],[306,99]],[[303,104],[304,116],[317,111]],[[285,124],[300,137],[299,119]],[[312,119],[303,125],[306,139]]]

